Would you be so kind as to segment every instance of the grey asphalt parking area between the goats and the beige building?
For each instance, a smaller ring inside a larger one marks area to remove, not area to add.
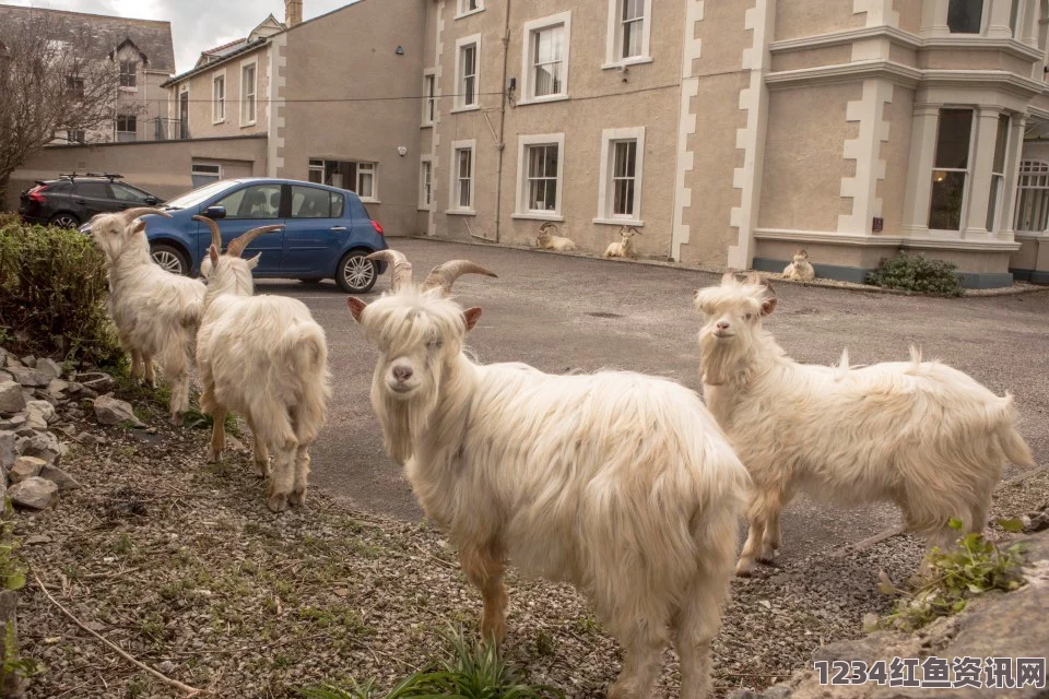
[[[544,252],[392,239],[416,275],[456,258],[495,271],[464,276],[458,300],[484,315],[470,334],[482,363],[526,362],[544,371],[617,368],[665,376],[698,389],[699,317],[692,294],[718,277],[694,271]],[[375,298],[388,286],[376,285]],[[258,293],[302,299],[328,333],[333,399],[314,445],[313,487],[358,509],[419,519],[411,488],[382,451],[368,400],[375,353],[333,283],[259,281]],[[1049,460],[1049,292],[964,299],[916,298],[777,285],[766,327],[800,362],[830,364],[849,348],[853,364],[899,360],[910,345],[966,371],[1001,394],[1011,391],[1021,431],[1039,463]],[[1006,473],[1018,472],[1013,469]],[[837,547],[898,522],[891,507],[837,511],[799,498],[783,514],[781,555]]]

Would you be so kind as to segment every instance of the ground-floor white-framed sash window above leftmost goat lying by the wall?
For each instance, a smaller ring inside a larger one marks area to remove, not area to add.
[[[564,145],[563,133],[520,137],[516,215],[526,218],[561,218]]]

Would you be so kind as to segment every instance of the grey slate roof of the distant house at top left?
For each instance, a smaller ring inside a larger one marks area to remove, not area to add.
[[[26,23],[31,17],[42,14],[52,17],[68,34],[87,32],[106,52],[130,39],[145,57],[150,70],[169,74],[175,72],[170,22],[0,4],[0,24]]]

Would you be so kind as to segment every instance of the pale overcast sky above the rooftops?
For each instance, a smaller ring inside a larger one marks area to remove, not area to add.
[[[331,12],[351,1],[304,0],[303,19]],[[247,36],[269,13],[284,21],[284,0],[0,0],[0,4],[166,20],[172,23],[175,63],[180,73],[193,67],[202,50]]]

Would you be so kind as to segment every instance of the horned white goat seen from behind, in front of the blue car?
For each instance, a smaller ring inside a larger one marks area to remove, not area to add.
[[[309,446],[325,425],[331,395],[325,331],[302,301],[251,295],[251,270],[259,258],[241,260],[240,254],[251,240],[282,226],[249,230],[220,257],[219,226],[204,216],[193,218],[212,230],[208,294],[197,339],[204,389],[200,407],[214,422],[208,459],[222,459],[226,413],[244,415],[255,438],[260,476],[269,475],[273,451],[267,505],[280,512],[288,502],[306,501]]]

